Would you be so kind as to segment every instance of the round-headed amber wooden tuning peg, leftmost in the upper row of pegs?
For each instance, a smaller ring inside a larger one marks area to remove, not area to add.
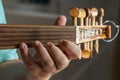
[[[77,26],[77,17],[79,16],[79,8],[73,7],[69,11],[70,16],[73,18],[73,25]]]

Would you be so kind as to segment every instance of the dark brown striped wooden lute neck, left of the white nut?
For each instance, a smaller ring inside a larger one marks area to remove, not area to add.
[[[61,39],[75,41],[74,26],[0,25],[0,49],[18,48],[22,42],[29,47],[35,40],[57,43]]]

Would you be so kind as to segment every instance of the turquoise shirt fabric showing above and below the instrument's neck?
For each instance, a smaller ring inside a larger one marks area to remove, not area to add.
[[[6,24],[5,13],[3,9],[2,0],[0,0],[0,24]],[[0,63],[18,59],[18,54],[16,49],[6,49],[0,50]]]

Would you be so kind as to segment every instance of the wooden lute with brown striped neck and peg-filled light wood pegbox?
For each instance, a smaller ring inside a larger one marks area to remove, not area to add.
[[[90,47],[93,45],[90,44],[91,42],[96,41],[95,45],[98,45],[99,39],[111,37],[111,26],[102,24],[103,9],[101,8],[100,12],[97,12],[100,15],[98,15],[99,21],[95,20],[96,11],[94,10],[96,8],[71,8],[70,15],[73,18],[73,26],[1,24],[0,49],[18,48],[21,42],[25,42],[29,47],[32,47],[35,40],[40,40],[43,44],[45,42],[57,44],[61,39],[73,41],[78,45],[85,44],[84,49],[86,50],[92,49]],[[83,58],[89,58],[91,52],[82,54],[84,54]]]

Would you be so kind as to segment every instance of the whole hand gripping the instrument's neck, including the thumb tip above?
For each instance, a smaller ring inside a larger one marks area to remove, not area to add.
[[[65,25],[66,18],[58,17],[55,25]],[[20,44],[20,53],[28,69],[30,80],[49,80],[49,78],[66,68],[72,59],[80,58],[80,48],[68,40],[60,40],[58,45],[47,42],[43,45],[35,41],[33,47],[36,50],[37,59],[29,56],[29,50],[25,43]]]

